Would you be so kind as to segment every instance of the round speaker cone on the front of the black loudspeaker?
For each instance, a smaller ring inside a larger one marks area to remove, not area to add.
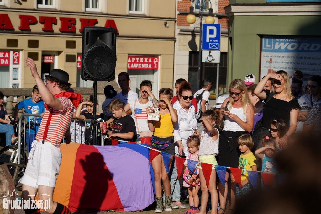
[[[115,74],[116,56],[106,46],[98,45],[89,49],[83,62],[86,73],[93,79],[106,79]]]

